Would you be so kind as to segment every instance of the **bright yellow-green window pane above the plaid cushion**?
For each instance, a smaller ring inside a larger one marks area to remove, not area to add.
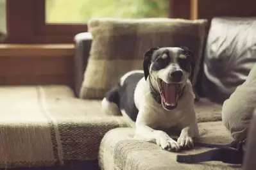
[[[46,0],[46,22],[85,23],[92,17],[167,17],[169,0]]]

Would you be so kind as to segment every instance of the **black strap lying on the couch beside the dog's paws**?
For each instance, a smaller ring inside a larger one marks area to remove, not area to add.
[[[243,146],[245,143],[246,139],[243,141],[233,141],[232,143],[226,145],[194,143],[194,146],[216,149],[194,155],[177,155],[176,161],[186,164],[207,161],[221,161],[228,164],[242,164],[244,155]]]

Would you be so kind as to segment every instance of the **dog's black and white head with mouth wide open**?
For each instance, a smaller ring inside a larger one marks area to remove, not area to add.
[[[193,65],[193,54],[186,47],[151,48],[144,54],[145,79],[160,93],[162,106],[175,109],[183,86],[187,83]]]

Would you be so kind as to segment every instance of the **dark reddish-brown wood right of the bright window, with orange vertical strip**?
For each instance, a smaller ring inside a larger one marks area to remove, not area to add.
[[[214,17],[256,17],[255,0],[171,0],[171,18],[207,19]]]

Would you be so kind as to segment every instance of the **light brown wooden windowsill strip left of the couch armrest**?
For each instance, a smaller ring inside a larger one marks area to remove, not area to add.
[[[0,44],[0,57],[74,56],[74,44]]]

